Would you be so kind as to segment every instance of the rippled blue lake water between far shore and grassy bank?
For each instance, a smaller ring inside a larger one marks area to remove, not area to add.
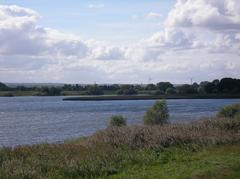
[[[0,98],[0,146],[62,142],[104,129],[112,115],[142,124],[148,101],[62,101],[62,97]],[[171,122],[211,117],[240,99],[167,100]]]

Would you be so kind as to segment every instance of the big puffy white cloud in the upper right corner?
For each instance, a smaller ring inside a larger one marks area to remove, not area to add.
[[[165,27],[192,31],[198,37],[195,44],[210,53],[239,55],[240,1],[178,0],[168,14]]]

